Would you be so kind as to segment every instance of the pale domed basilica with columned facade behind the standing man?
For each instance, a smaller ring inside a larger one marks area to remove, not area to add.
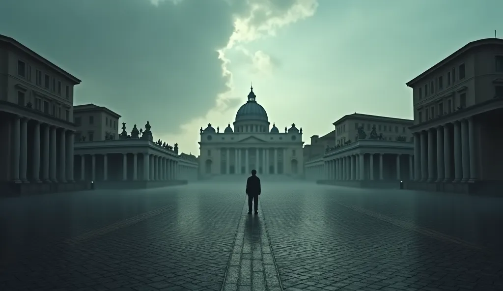
[[[214,175],[248,175],[256,169],[262,175],[284,174],[303,176],[302,128],[295,124],[280,132],[275,124],[270,128],[264,107],[256,101],[251,88],[248,101],[220,132],[211,124],[201,127],[199,169],[203,178]]]

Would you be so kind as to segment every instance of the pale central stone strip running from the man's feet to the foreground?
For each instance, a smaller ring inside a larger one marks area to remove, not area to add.
[[[246,198],[243,213],[247,212],[247,207]],[[258,214],[246,214],[239,220],[225,276],[224,291],[282,290],[264,224],[262,208],[259,208]]]

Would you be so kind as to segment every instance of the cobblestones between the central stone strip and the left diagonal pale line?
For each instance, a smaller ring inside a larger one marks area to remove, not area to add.
[[[0,273],[0,290],[220,290],[242,201],[188,195],[172,211],[37,250]]]

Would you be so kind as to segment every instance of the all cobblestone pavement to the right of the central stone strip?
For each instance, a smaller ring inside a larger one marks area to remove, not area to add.
[[[261,195],[285,290],[503,290],[500,199],[307,190]]]

